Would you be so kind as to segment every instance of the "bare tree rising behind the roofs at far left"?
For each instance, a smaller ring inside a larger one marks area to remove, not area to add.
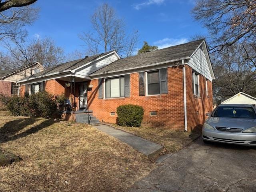
[[[51,38],[36,38],[29,42],[20,38],[12,40],[13,42],[4,41],[9,63],[12,63],[9,68],[26,68],[35,62],[40,62],[47,69],[64,60],[63,49],[56,46]]]

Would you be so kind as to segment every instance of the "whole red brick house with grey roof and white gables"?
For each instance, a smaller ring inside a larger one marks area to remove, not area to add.
[[[92,110],[100,121],[115,123],[118,106],[137,104],[144,125],[193,130],[212,111],[213,79],[206,42],[198,40],[122,59],[115,51],[90,56],[19,83],[21,94],[65,94],[73,110]]]

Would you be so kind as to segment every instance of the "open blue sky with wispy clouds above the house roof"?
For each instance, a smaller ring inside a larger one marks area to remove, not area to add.
[[[29,36],[49,36],[66,54],[83,50],[78,34],[90,30],[89,17],[104,2],[124,18],[128,32],[138,30],[138,48],[144,40],[164,48],[206,33],[190,14],[194,0],[38,0],[40,16],[26,27]]]

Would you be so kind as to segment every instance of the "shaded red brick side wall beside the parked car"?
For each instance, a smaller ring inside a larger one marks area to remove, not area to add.
[[[206,96],[206,78],[199,75],[200,97],[194,96],[192,89],[192,68],[186,65],[186,100],[188,131],[201,129],[207,116],[212,111],[212,82],[208,82],[208,96]]]

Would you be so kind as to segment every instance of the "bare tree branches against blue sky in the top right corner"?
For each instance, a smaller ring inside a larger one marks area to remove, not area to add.
[[[225,51],[244,42],[250,49],[256,48],[255,0],[197,0],[192,14],[210,32],[211,52]],[[247,56],[254,65],[255,58]]]

